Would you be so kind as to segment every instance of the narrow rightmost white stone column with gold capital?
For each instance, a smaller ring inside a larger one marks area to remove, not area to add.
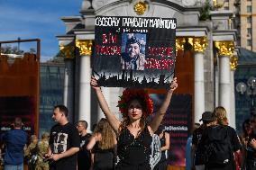
[[[230,121],[229,125],[235,129],[235,97],[234,97],[234,71],[237,67],[237,57],[232,56],[230,58],[230,85],[231,85],[231,96],[230,96],[230,101],[231,101],[231,107],[230,107]]]

